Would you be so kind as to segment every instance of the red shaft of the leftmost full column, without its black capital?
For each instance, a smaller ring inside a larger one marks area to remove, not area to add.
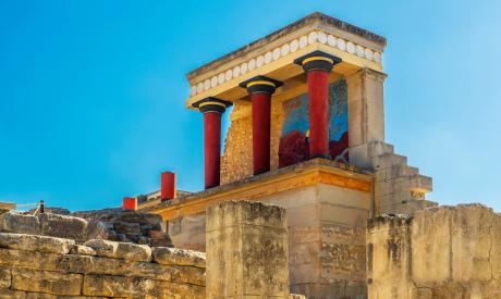
[[[205,188],[219,186],[221,148],[221,113],[204,113]]]

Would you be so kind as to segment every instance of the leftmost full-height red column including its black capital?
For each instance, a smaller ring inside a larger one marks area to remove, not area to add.
[[[220,184],[221,172],[221,114],[231,103],[216,98],[207,98],[193,104],[204,113],[204,166],[205,188]]]

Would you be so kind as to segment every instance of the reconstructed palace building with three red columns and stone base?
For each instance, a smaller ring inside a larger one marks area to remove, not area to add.
[[[168,221],[176,246],[205,251],[209,204],[283,207],[291,290],[363,297],[367,219],[436,205],[425,199],[431,178],[384,142],[386,43],[314,13],[188,73],[186,108],[204,117],[206,189],[173,199],[167,173],[163,194],[139,198],[138,209]]]

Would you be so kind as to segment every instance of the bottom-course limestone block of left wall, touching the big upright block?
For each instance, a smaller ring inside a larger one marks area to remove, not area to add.
[[[83,294],[86,296],[132,298],[205,298],[205,288],[137,277],[85,275]]]

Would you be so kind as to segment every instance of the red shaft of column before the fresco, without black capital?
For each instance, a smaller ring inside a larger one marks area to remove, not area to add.
[[[329,158],[329,73],[308,72],[309,157]]]

